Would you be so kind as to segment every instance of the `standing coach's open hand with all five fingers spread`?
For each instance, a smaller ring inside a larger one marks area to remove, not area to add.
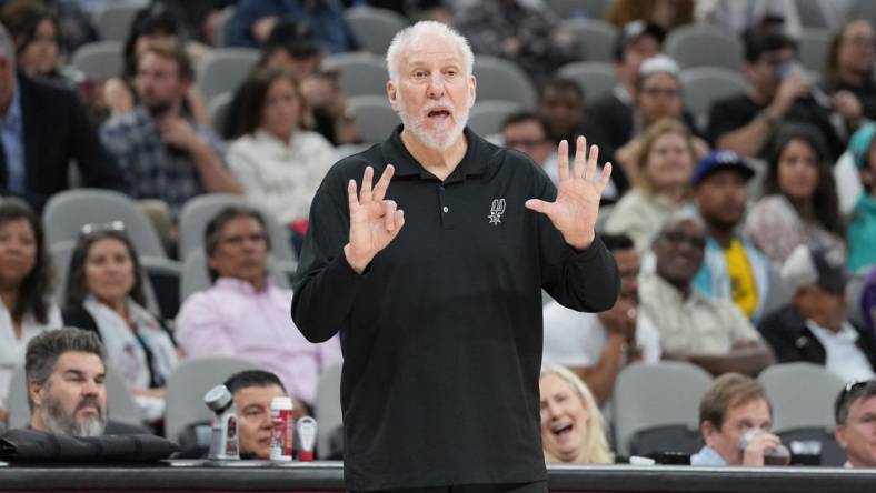
[[[550,219],[554,227],[563,233],[566,243],[577,250],[584,250],[593,243],[596,233],[596,215],[599,213],[599,198],[611,178],[611,164],[606,163],[603,173],[596,180],[596,159],[599,148],[590,145],[587,155],[587,139],[578,137],[575,149],[575,161],[569,171],[569,143],[561,141],[557,149],[559,154],[559,182],[557,200],[546,202],[529,199],[526,207],[541,212]],[[586,161],[586,162],[585,162]]]

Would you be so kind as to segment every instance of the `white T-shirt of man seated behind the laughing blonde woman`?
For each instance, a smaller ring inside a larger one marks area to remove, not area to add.
[[[603,356],[606,330],[596,313],[569,310],[551,300],[542,309],[545,320],[545,363],[564,366],[596,366]],[[657,328],[639,311],[636,322],[636,345],[643,361],[660,360],[660,338]]]

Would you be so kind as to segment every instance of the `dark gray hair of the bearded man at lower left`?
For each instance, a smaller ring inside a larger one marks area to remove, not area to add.
[[[58,359],[67,352],[96,354],[104,365],[107,364],[103,344],[97,333],[77,328],[46,331],[28,343],[24,356],[24,375],[28,388],[31,382],[39,383],[41,388],[44,386],[54,372]],[[32,411],[33,401],[30,399],[30,392],[28,392],[28,405]]]

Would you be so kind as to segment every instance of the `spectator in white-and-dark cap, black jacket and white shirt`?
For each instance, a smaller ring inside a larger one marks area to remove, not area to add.
[[[837,251],[797,247],[782,268],[792,303],[758,325],[779,363],[820,364],[844,381],[873,378],[876,340],[846,319],[846,273]]]

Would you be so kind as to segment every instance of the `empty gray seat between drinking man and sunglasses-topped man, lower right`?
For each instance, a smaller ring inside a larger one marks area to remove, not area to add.
[[[773,430],[828,427],[834,424],[834,400],[845,382],[824,366],[783,363],[757,378],[773,404]]]

